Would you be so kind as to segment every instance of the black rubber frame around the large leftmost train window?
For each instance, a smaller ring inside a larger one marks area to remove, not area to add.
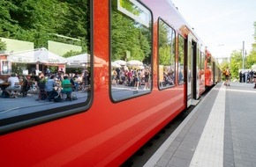
[[[90,67],[91,67],[91,76],[94,76],[94,59],[93,56],[93,24],[94,24],[94,13],[93,6],[94,1],[88,0],[89,6],[89,22],[90,22],[90,31],[89,31],[89,39],[90,45],[88,46],[90,49]],[[19,129],[23,129],[26,127],[33,127],[36,125],[40,125],[45,122],[49,122],[52,120],[59,120],[64,117],[69,117],[78,113],[85,113],[91,107],[94,99],[94,81],[91,81],[90,91],[87,92],[87,99],[83,102],[76,103],[73,105],[64,105],[56,108],[40,110],[34,113],[26,113],[13,117],[8,117],[0,120],[0,134],[8,134],[13,131],[17,131]],[[19,100],[19,99],[17,99]],[[29,110],[29,108],[27,109]]]

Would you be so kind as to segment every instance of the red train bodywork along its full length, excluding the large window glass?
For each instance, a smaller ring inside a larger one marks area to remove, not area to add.
[[[202,42],[169,0],[127,2],[149,11],[146,13],[152,18],[150,89],[128,98],[114,96],[112,40],[109,40],[114,34],[110,20],[113,4],[92,1],[89,5],[92,83],[87,103],[63,107],[59,113],[49,113],[50,116],[3,123],[0,136],[2,166],[119,166],[177,114],[192,105],[193,99],[200,98],[206,86],[215,84],[217,67],[213,69],[212,55],[207,54],[205,47],[200,47]],[[163,82],[160,81],[159,25],[162,22],[159,19],[175,31],[175,82],[169,87],[161,87]],[[183,67],[178,64],[179,35],[185,46]],[[184,80],[179,80],[178,68],[184,68]],[[65,114],[65,111],[72,112]]]

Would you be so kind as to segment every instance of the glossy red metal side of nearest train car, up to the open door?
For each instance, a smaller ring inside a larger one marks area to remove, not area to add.
[[[1,166],[119,166],[185,108],[185,84],[157,88],[157,18],[185,37],[183,20],[167,1],[144,0],[154,15],[150,94],[119,103],[109,99],[109,2],[94,0],[94,96],[79,113],[0,137]]]

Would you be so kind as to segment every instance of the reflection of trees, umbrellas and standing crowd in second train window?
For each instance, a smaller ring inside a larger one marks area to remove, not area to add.
[[[137,1],[112,0],[109,82],[114,101],[151,90],[151,54],[151,12]]]

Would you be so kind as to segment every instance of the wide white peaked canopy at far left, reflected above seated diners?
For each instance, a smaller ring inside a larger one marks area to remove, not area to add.
[[[49,52],[48,49],[41,47],[25,52],[13,53],[7,56],[9,62],[18,63],[45,63],[45,64],[64,64],[67,60],[57,54]]]

